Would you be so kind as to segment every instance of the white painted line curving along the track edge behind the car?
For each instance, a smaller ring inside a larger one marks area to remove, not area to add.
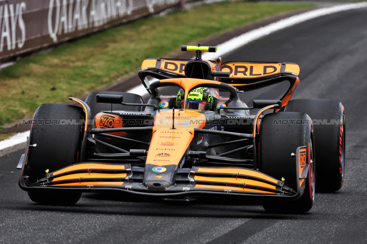
[[[364,7],[367,7],[367,3],[350,3],[350,4],[337,5],[333,7],[320,8],[317,10],[305,12],[303,14],[294,15],[289,18],[279,20],[275,23],[271,23],[267,26],[248,31],[247,33],[239,35],[238,37],[232,38],[229,41],[219,44],[217,46],[218,52],[204,53],[202,57],[203,59],[215,60],[219,56],[223,56],[229,52],[232,52],[233,50],[240,48],[241,46],[244,46],[251,41],[257,40],[261,37],[265,37],[266,35],[269,35],[275,31],[278,31],[278,30],[281,30],[281,29],[284,29],[284,28],[287,28],[293,25],[297,25],[299,23],[305,22],[306,20],[314,19],[320,16],[334,14],[334,13],[346,11],[346,10],[364,8]],[[139,94],[141,96],[149,94],[143,85],[136,86],[128,90],[127,92]],[[29,136],[29,131],[18,133],[18,135],[15,135],[11,137],[10,139],[1,141],[0,150],[10,147],[10,146],[14,146],[22,142],[26,142],[27,136]]]

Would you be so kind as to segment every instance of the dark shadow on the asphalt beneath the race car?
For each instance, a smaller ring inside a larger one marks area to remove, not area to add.
[[[79,202],[73,206],[52,206],[27,202],[22,206],[18,205],[16,209],[151,217],[305,219],[312,215],[312,212],[305,214],[267,213],[259,200],[201,197],[190,202],[182,202],[105,193],[83,194]]]

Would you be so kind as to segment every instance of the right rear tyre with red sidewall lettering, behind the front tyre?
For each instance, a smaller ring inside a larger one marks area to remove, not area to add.
[[[288,102],[284,111],[308,114],[315,130],[318,192],[338,191],[345,172],[344,106],[327,99],[297,99]]]

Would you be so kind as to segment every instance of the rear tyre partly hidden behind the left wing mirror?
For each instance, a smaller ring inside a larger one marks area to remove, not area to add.
[[[123,101],[130,104],[143,104],[144,100],[140,95],[127,93],[127,92],[118,92],[118,91],[95,91],[88,95],[86,98],[86,104],[91,109],[92,117],[97,115],[97,113],[101,111],[111,111],[111,104],[103,104],[95,101],[97,94],[108,94],[108,95],[120,95],[123,96]],[[126,106],[121,104],[112,104],[113,111],[141,111],[144,107],[141,106]]]

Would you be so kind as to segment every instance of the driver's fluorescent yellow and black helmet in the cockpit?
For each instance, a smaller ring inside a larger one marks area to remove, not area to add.
[[[185,91],[179,90],[177,94],[177,106],[183,108]],[[210,110],[212,108],[213,97],[207,87],[198,87],[190,91],[187,96],[187,109]]]

